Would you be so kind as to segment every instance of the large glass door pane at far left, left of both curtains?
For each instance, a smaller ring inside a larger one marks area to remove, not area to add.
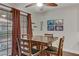
[[[0,56],[11,55],[12,14],[0,9]]]

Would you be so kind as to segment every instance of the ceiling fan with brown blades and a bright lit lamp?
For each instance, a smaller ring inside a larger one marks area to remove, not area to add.
[[[37,5],[38,7],[42,7],[42,6],[48,6],[48,7],[56,7],[58,6],[56,3],[30,3],[28,5],[26,5],[25,7],[31,7],[31,6],[35,6]]]

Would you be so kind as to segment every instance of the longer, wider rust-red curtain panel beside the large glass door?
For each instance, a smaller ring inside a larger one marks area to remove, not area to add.
[[[20,39],[20,11],[12,8],[12,55],[18,55],[17,40]]]

